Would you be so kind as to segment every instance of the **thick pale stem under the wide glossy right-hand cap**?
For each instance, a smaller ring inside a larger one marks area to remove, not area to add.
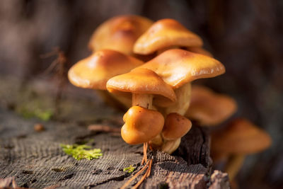
[[[177,101],[165,109],[165,115],[169,113],[178,113],[180,115],[185,115],[187,108],[190,106],[190,96],[192,91],[192,85],[187,83],[174,90]]]

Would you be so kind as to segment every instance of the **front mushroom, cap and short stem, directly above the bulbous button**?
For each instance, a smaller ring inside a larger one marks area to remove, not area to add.
[[[158,98],[166,98],[172,102],[176,100],[171,86],[150,69],[134,69],[127,74],[112,77],[107,82],[107,88],[117,95],[132,93],[132,106],[138,105],[149,110],[153,108],[152,102]],[[162,144],[161,140],[156,142],[157,146]]]

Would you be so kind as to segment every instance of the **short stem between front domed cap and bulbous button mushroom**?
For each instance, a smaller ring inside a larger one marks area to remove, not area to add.
[[[152,110],[152,99],[154,98],[151,94],[132,94],[132,106],[139,105],[142,108]]]

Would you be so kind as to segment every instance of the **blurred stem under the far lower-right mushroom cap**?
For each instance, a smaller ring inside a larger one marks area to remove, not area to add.
[[[244,159],[245,159],[245,155],[243,154],[233,154],[229,156],[224,171],[228,173],[230,181],[233,181],[233,179],[237,175],[238,171],[243,165]]]

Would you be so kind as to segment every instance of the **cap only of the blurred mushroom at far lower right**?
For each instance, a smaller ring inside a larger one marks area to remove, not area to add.
[[[238,118],[225,130],[212,135],[212,151],[223,154],[253,154],[270,147],[271,138],[252,122]]]

